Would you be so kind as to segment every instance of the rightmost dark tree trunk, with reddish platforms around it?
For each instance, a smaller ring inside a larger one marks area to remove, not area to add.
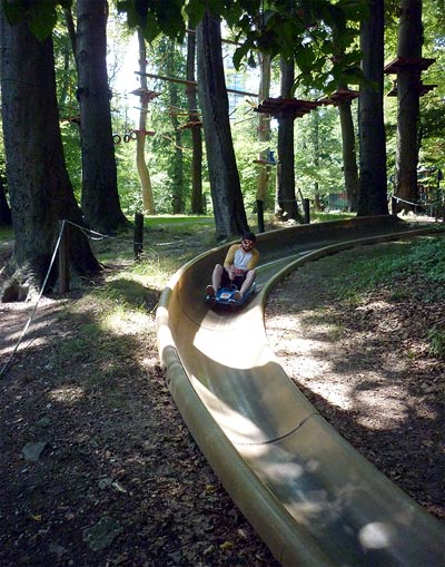
[[[422,0],[402,0],[397,55],[407,59],[421,59],[422,45]],[[398,70],[395,195],[408,203],[416,203],[418,199],[419,85],[419,68]],[[408,203],[399,206],[413,209]]]

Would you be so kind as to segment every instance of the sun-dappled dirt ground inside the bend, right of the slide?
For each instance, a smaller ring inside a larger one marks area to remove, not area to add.
[[[329,274],[369,251],[307,264],[269,297],[269,342],[288,375],[334,428],[387,477],[445,518],[444,361],[428,330],[445,302],[422,280],[342,302]],[[413,290],[415,293],[413,293]],[[433,294],[434,295],[434,294]]]

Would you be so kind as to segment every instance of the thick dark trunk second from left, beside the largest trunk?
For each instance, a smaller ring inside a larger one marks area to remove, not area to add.
[[[107,77],[106,0],[77,2],[77,66],[82,146],[82,212],[97,231],[126,226],[117,188],[110,89]]]

